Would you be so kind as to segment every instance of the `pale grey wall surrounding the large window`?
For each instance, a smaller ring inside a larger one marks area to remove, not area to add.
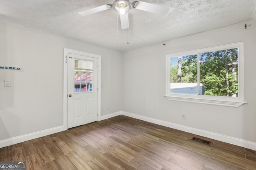
[[[250,25],[247,29],[244,29],[245,23]],[[248,104],[234,108],[176,102],[164,97],[166,54],[239,41],[244,41],[244,99]],[[145,116],[255,143],[255,47],[256,22],[248,21],[124,52],[122,110],[139,115],[137,117]],[[181,114],[186,114],[186,119],[182,119]]]

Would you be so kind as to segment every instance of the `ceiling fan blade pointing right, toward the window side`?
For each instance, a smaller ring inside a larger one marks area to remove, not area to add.
[[[159,15],[165,15],[169,12],[169,8],[166,6],[159,6],[142,1],[136,2],[134,8]]]

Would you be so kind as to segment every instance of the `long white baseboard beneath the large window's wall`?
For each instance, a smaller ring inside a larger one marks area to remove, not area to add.
[[[218,134],[218,133],[212,133],[212,132],[209,132],[209,131],[204,131],[204,130],[200,130],[200,129],[196,129],[196,128],[192,128],[192,127],[178,125],[178,124],[171,123],[171,122],[168,122],[168,121],[162,121],[162,120],[154,119],[154,118],[151,118],[151,117],[137,115],[137,114],[134,114],[134,113],[128,113],[128,112],[125,112],[125,111],[122,111],[122,115],[132,117],[132,118],[135,118],[135,119],[148,121],[150,123],[155,123],[155,124],[158,124],[158,125],[170,127],[170,128],[177,129],[177,130],[180,130],[180,131],[192,133],[192,134],[195,134],[195,135],[207,137],[207,138],[214,139],[214,140],[217,140],[217,141],[230,143],[232,145],[237,145],[237,146],[240,146],[240,147],[256,150],[256,143],[254,143],[254,142],[250,142],[250,141],[246,141],[246,140],[242,140],[242,139],[238,139],[238,138],[234,138],[234,137],[230,137],[230,136],[226,136],[226,135],[221,135],[221,134]]]

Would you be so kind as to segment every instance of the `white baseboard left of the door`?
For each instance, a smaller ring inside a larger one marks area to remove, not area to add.
[[[21,136],[18,136],[18,137],[12,137],[12,138],[9,138],[9,139],[4,139],[4,140],[0,141],[0,148],[7,147],[7,146],[10,146],[10,145],[14,145],[16,143],[21,143],[21,142],[24,142],[24,141],[28,141],[28,140],[31,140],[31,139],[36,139],[38,137],[43,137],[43,136],[50,135],[50,134],[53,134],[53,133],[58,133],[58,132],[63,131],[63,129],[64,129],[63,126],[58,126],[58,127],[54,127],[54,128],[34,132],[34,133],[29,133],[29,134],[26,134],[26,135],[21,135]]]

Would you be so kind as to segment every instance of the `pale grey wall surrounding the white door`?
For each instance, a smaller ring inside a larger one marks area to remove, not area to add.
[[[0,141],[63,125],[64,48],[102,56],[101,115],[121,110],[120,52],[0,22],[0,65],[22,68],[0,70]]]

